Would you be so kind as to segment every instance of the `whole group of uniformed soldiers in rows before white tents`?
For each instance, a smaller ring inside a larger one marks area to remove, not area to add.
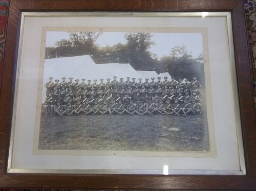
[[[167,77],[161,81],[161,77],[155,82],[155,78],[142,79],[127,77],[117,80],[114,76],[104,83],[103,79],[97,83],[94,80],[63,77],[62,81],[49,78],[49,82],[45,84],[46,100],[44,103],[45,114],[63,116],[63,115],[79,115],[79,114],[138,114],[138,115],[154,115],[169,114],[183,115],[201,114],[200,104],[200,83],[196,76],[192,81],[179,78],[178,81],[174,77],[168,81]]]

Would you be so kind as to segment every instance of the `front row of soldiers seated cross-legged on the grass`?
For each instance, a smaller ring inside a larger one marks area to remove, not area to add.
[[[158,103],[153,103],[151,100],[148,100],[146,103],[142,101],[134,102],[130,100],[129,103],[125,104],[122,100],[115,102],[107,102],[103,100],[102,104],[98,100],[94,100],[93,103],[90,103],[89,100],[86,100],[84,104],[81,104],[80,101],[77,101],[72,105],[72,101],[69,101],[67,105],[62,105],[61,102],[57,101],[56,104],[46,104],[44,106],[46,115],[48,115],[48,108],[50,109],[51,115],[63,116],[63,115],[79,115],[79,114],[169,114],[169,115],[180,115],[183,114],[201,114],[201,106],[196,100],[184,100],[183,104],[179,103],[178,99],[174,100],[174,103],[171,104],[170,100],[167,99],[165,102],[160,99]]]

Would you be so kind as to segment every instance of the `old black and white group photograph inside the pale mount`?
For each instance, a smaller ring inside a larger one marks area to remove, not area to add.
[[[38,150],[209,152],[203,49],[201,33],[47,31]]]

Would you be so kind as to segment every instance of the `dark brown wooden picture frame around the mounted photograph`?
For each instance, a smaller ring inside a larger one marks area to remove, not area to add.
[[[231,12],[246,175],[120,175],[7,173],[22,12]],[[243,1],[10,0],[0,95],[0,187],[87,189],[256,189],[256,123]]]

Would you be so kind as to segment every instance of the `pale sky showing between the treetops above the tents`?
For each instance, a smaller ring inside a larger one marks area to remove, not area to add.
[[[95,41],[100,47],[106,45],[112,46],[121,42],[126,43],[124,32],[103,32]],[[151,40],[155,45],[151,45],[148,51],[157,55],[160,59],[163,56],[169,56],[170,51],[176,45],[185,45],[188,53],[194,58],[203,53],[203,39],[201,33],[151,33]],[[55,46],[55,42],[61,39],[69,39],[68,32],[48,31],[46,37],[46,46]]]

